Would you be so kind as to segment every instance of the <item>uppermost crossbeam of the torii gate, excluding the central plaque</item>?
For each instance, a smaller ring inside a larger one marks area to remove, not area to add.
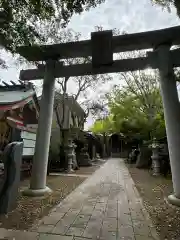
[[[180,26],[155,31],[113,36],[114,53],[149,49],[159,44],[180,44]],[[34,45],[18,47],[17,52],[29,61],[87,57],[92,55],[91,40],[68,42],[53,45]]]

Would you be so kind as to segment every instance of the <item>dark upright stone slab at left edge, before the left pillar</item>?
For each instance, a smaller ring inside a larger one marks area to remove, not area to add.
[[[3,152],[4,175],[0,182],[0,214],[16,208],[20,183],[23,143],[8,144]]]

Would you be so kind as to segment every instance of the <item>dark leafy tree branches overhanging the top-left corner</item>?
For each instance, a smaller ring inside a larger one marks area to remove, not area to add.
[[[45,42],[45,23],[66,26],[75,13],[104,0],[0,0],[0,45],[14,52],[17,45]]]

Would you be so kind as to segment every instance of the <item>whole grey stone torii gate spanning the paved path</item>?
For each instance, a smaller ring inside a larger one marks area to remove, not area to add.
[[[169,146],[173,180],[172,204],[180,206],[180,103],[174,77],[174,67],[180,66],[180,26],[112,36],[112,31],[91,33],[91,40],[55,45],[22,46],[18,52],[29,61],[44,61],[37,69],[22,70],[21,80],[44,79],[40,105],[35,156],[28,195],[41,195],[49,191],[46,187],[48,151],[53,114],[54,84],[56,77],[83,76],[143,70],[147,67],[159,69],[160,87],[164,106],[166,132]],[[113,53],[153,49],[146,57],[113,60]],[[92,63],[63,65],[66,58],[92,56]]]

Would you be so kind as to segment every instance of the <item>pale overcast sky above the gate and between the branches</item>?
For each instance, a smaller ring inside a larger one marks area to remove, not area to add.
[[[172,9],[171,13],[162,11],[161,7],[152,6],[150,0],[106,0],[104,4],[89,12],[73,16],[69,27],[81,32],[83,38],[90,38],[95,26],[102,26],[104,29],[117,28],[133,33],[171,27],[179,25],[179,22],[175,9]],[[21,67],[14,64],[11,55],[3,53],[3,56],[8,60],[10,68],[1,70],[1,79],[17,80]],[[106,90],[109,87],[106,85]],[[92,120],[89,119],[87,125],[91,123]]]

